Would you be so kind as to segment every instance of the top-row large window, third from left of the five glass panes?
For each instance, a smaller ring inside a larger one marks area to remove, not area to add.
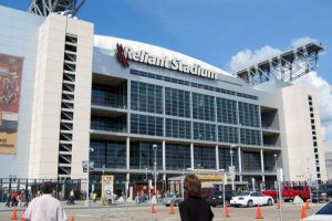
[[[193,117],[215,122],[215,97],[193,93]]]

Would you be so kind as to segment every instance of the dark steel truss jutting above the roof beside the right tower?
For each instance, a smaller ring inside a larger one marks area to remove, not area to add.
[[[320,43],[310,42],[252,64],[234,74],[251,85],[258,85],[273,78],[290,83],[317,70],[319,53],[323,50]]]

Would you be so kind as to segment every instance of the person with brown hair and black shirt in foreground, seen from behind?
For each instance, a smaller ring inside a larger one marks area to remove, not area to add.
[[[201,198],[201,182],[196,175],[187,175],[184,181],[186,199],[179,204],[181,221],[211,221],[214,213]]]

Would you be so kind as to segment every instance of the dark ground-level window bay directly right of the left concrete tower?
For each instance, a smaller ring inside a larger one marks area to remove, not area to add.
[[[96,168],[126,168],[126,145],[125,141],[91,140],[90,159]]]

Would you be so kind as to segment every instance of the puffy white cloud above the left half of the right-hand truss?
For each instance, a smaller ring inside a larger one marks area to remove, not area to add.
[[[262,61],[281,52],[282,51],[280,49],[274,49],[269,45],[256,50],[255,52],[246,49],[231,56],[231,60],[229,62],[230,72],[239,71],[246,66],[255,64],[256,62]]]

